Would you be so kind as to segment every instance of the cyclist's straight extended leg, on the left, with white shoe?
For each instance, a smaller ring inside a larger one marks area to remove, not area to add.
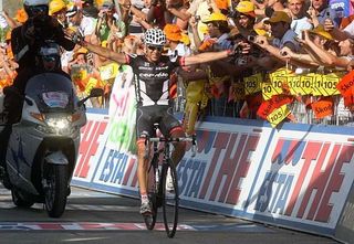
[[[147,170],[148,170],[148,159],[145,158],[145,138],[152,135],[149,116],[147,116],[147,110],[145,108],[137,108],[137,121],[136,121],[136,132],[137,132],[137,179],[139,184],[139,193],[142,200],[140,213],[150,213],[150,203],[147,195]]]

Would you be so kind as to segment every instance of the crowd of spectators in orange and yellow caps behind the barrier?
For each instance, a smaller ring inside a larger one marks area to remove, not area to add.
[[[233,49],[235,57],[177,70],[176,109],[195,103],[198,115],[280,121],[346,124],[354,104],[354,18],[351,0],[51,0],[50,14],[69,32],[115,52],[142,53],[147,29],[160,28],[165,54]],[[0,87],[17,63],[11,29],[25,21],[1,13]],[[77,46],[62,68],[81,95],[103,87],[107,107],[119,64]]]

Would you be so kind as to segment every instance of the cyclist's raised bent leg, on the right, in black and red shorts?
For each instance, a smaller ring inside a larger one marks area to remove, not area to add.
[[[166,136],[170,136],[173,138],[177,137],[185,137],[186,132],[184,128],[181,127],[179,120],[175,118],[173,115],[173,108],[169,107],[167,110],[165,110],[164,117],[160,123],[160,128],[163,134]],[[174,144],[175,150],[173,151],[171,159],[177,166],[179,161],[184,158],[186,152],[186,142],[179,141]]]

